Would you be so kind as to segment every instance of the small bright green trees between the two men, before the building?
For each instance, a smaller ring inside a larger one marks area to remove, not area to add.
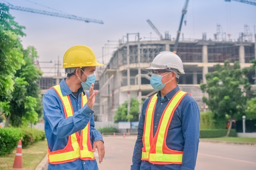
[[[117,123],[119,121],[139,121],[139,101],[135,98],[131,98],[130,102],[130,113],[127,114],[128,102],[124,102],[121,106],[117,108],[116,115],[114,117],[114,122]]]

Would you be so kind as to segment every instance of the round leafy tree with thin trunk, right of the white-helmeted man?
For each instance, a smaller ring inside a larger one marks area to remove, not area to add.
[[[218,64],[216,71],[205,75],[206,84],[200,84],[202,92],[209,95],[209,98],[203,97],[203,102],[208,105],[215,119],[228,118],[229,128],[226,136],[229,136],[232,120],[245,113],[246,92],[251,87],[245,76],[247,72],[247,69],[240,68],[239,62],[234,62],[234,66],[231,66],[225,61],[224,66]]]

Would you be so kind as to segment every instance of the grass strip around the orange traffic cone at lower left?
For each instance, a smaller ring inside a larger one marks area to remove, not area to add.
[[[9,170],[13,167],[16,150],[13,153],[0,157],[0,170]],[[35,170],[47,154],[47,141],[38,141],[27,148],[22,148],[22,168]]]

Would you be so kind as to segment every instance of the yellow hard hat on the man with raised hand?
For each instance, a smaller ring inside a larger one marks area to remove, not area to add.
[[[88,46],[72,46],[64,54],[62,68],[82,68],[90,66],[104,66],[104,64],[97,62],[94,52]]]

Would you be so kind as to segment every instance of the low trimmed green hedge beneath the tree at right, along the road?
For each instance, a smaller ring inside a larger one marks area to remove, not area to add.
[[[200,138],[224,137],[227,134],[227,129],[203,129],[200,130]],[[236,130],[230,130],[230,137],[236,137]]]

